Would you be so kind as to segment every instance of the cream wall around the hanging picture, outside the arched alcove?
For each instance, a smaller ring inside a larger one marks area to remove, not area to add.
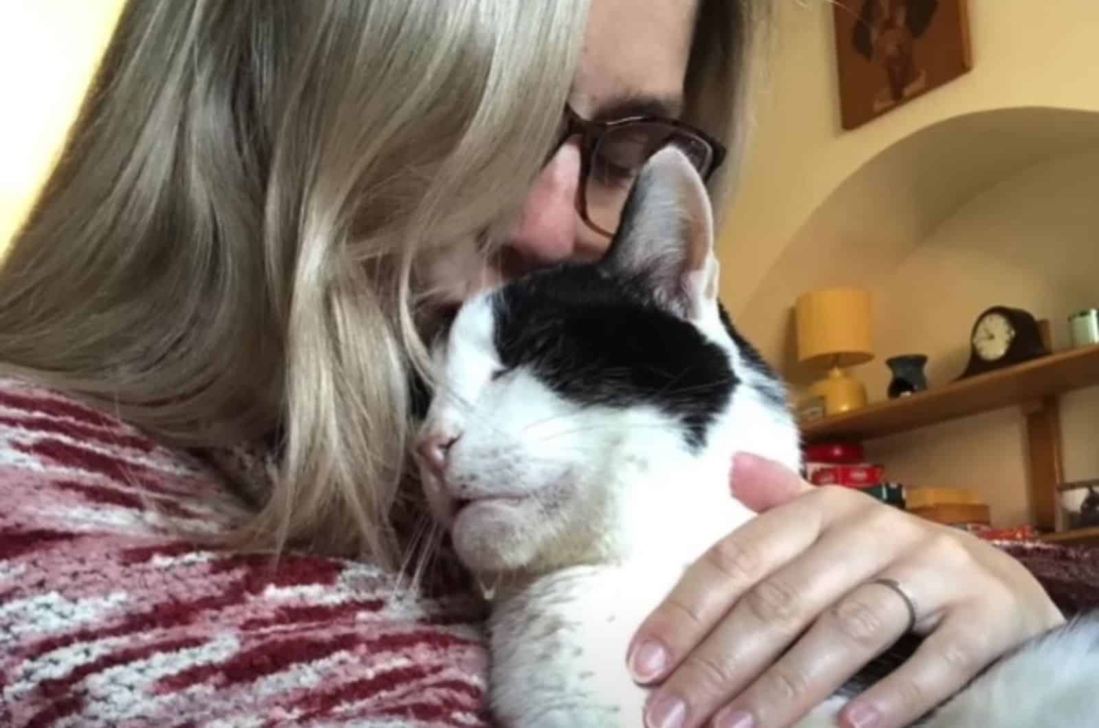
[[[857,0],[837,0],[857,9]],[[721,238],[734,315],[840,183],[898,140],[952,117],[1010,107],[1099,111],[1099,2],[968,0],[974,69],[856,130],[840,128],[830,0],[775,0],[776,55],[742,194]],[[941,179],[966,158],[944,159]]]

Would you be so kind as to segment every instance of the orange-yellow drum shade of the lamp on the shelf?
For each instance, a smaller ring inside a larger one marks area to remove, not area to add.
[[[798,360],[833,367],[874,359],[870,294],[861,288],[826,288],[798,298]]]

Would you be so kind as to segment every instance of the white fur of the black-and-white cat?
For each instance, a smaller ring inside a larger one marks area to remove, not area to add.
[[[745,365],[719,319],[701,183],[675,152],[650,166],[670,181],[644,209],[688,210],[704,246],[702,258],[687,256],[704,262],[684,272],[684,316],[741,379],[701,451],[655,408],[580,407],[522,367],[495,376],[487,295],[462,308],[437,351],[441,387],[424,432],[457,440],[445,477],[425,471],[424,487],[459,558],[498,586],[490,696],[508,728],[640,728],[646,692],[626,671],[628,646],[684,569],[751,518],[730,493],[733,454],[799,465],[795,423],[765,395],[774,384]],[[1099,630],[1076,629],[1007,660],[928,725],[1099,725]],[[799,728],[834,726],[841,706],[828,701]]]

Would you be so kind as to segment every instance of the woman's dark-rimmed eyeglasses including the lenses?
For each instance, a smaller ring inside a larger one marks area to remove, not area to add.
[[[725,147],[706,132],[676,119],[626,117],[588,121],[565,107],[557,143],[580,136],[580,183],[576,210],[597,233],[612,238],[622,219],[630,188],[651,156],[668,144],[684,152],[703,180],[725,158]]]

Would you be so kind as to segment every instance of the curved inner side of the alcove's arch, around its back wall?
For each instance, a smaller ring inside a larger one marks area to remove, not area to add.
[[[879,285],[987,190],[1092,147],[1099,147],[1099,112],[1046,107],[963,114],[899,140],[844,179],[800,225],[740,311],[740,326],[798,378],[789,321],[797,295],[828,285]]]

